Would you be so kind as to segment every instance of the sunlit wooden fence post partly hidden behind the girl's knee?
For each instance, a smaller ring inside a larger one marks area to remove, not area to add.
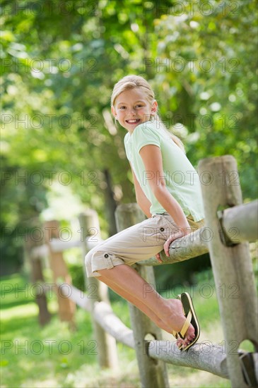
[[[96,245],[100,242],[100,225],[98,222],[98,214],[94,210],[88,210],[79,215],[81,226],[81,242],[83,251],[83,271],[86,283],[86,290],[89,291],[91,310],[93,311],[95,302],[105,301],[110,304],[108,296],[108,287],[106,284],[99,281],[96,277],[86,276],[86,268],[84,258],[90,250],[89,245]],[[93,247],[92,247],[93,248]],[[102,329],[98,322],[93,320],[93,331],[96,341],[98,342],[98,363],[100,368],[116,369],[118,365],[117,358],[117,343],[114,337],[110,336]]]

